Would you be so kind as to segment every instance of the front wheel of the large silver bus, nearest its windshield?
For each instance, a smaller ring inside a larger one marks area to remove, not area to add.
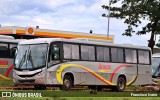
[[[70,78],[70,76],[65,75],[64,78],[63,78],[62,90],[68,91],[68,90],[70,90],[72,85],[73,85],[73,81]]]

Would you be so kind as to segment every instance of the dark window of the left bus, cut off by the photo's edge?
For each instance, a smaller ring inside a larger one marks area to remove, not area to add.
[[[7,58],[8,57],[8,44],[7,43],[0,43],[0,57]]]

